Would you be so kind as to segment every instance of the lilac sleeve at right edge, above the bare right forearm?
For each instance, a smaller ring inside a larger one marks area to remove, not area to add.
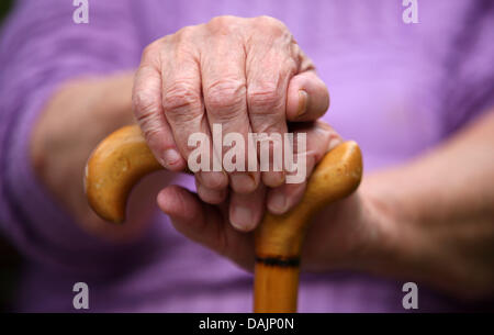
[[[451,134],[494,107],[494,3],[465,11],[444,64],[444,131]],[[491,64],[491,66],[489,66]]]

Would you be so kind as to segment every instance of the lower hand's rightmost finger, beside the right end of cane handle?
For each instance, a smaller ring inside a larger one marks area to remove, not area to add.
[[[273,214],[283,214],[294,205],[296,205],[305,192],[306,179],[311,176],[315,165],[324,157],[324,155],[333,149],[336,145],[341,143],[341,137],[326,123],[317,121],[311,125],[302,124],[301,127],[294,132],[294,153],[296,155],[305,155],[306,169],[304,174],[304,181],[297,183],[284,183],[281,187],[268,191],[267,204],[268,210]],[[296,145],[297,134],[306,134],[306,148]],[[296,161],[295,164],[299,164]],[[297,169],[300,166],[297,166]],[[300,171],[295,171],[296,174]],[[290,179],[289,174],[287,179]]]

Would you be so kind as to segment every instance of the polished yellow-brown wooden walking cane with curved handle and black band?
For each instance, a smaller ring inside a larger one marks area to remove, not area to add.
[[[86,166],[86,193],[91,208],[112,222],[125,220],[132,187],[161,169],[138,126],[123,127],[94,149]],[[353,192],[362,176],[357,143],[328,152],[308,179],[302,201],[283,215],[267,213],[255,232],[255,312],[296,312],[300,255],[311,217]]]

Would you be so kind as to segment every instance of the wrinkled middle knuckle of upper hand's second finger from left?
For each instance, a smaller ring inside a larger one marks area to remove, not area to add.
[[[165,114],[190,121],[202,109],[201,96],[192,85],[177,81],[162,96]]]

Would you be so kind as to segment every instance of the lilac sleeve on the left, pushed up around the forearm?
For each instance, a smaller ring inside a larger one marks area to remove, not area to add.
[[[128,2],[90,5],[89,24],[76,24],[72,1],[20,1],[2,27],[0,45],[1,233],[31,260],[78,270],[85,261],[91,267],[108,261],[114,248],[71,222],[36,180],[27,150],[37,115],[64,81],[138,65]],[[103,255],[102,248],[110,250]]]

